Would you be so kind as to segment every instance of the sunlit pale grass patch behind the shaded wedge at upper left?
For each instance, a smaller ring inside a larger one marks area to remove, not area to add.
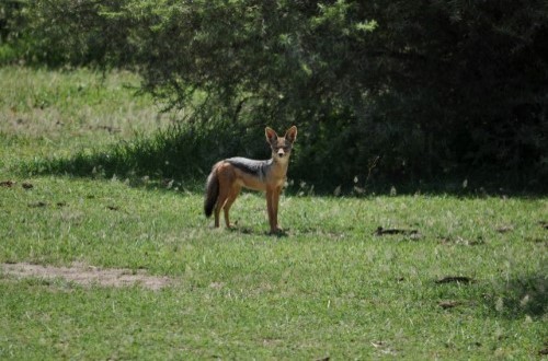
[[[165,127],[170,116],[138,85],[128,72],[1,67],[0,139],[18,150],[2,161],[67,158]]]

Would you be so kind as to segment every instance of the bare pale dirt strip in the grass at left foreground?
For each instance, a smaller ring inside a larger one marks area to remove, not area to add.
[[[82,264],[72,264],[70,267],[54,267],[32,265],[27,263],[1,264],[1,273],[16,278],[62,278],[84,287],[93,284],[101,287],[130,287],[141,286],[149,290],[160,290],[173,283],[169,277],[149,276],[145,270],[102,269]]]

